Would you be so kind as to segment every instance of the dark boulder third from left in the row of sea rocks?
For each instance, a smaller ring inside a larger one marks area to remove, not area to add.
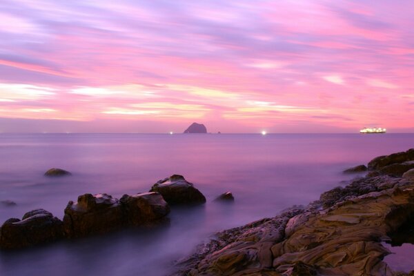
[[[170,206],[159,193],[124,195],[119,200],[126,213],[128,225],[155,224],[170,213]]]

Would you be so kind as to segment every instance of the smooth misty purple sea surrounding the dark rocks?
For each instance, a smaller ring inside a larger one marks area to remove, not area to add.
[[[35,208],[62,219],[79,195],[146,192],[172,174],[207,198],[201,207],[172,208],[170,226],[1,252],[0,275],[167,275],[218,230],[308,204],[355,177],[345,168],[408,148],[414,134],[0,133],[0,201],[17,204],[0,204],[0,224]],[[73,175],[44,177],[52,167]],[[213,202],[226,191],[234,204]]]

